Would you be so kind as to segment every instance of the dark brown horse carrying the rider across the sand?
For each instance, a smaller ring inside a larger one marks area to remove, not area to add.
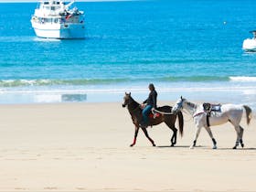
[[[143,118],[142,109],[140,107],[140,104],[133,100],[133,98],[131,97],[131,93],[125,92],[125,96],[123,97],[123,100],[124,100],[123,107],[127,106],[127,109],[132,116],[133,124],[135,125],[133,144],[130,145],[130,146],[133,146],[134,144],[136,144],[136,138],[137,138],[139,129],[141,127],[140,123],[142,122],[142,118]],[[182,112],[177,112],[176,114],[172,114],[171,113],[172,107],[167,106],[167,105],[157,108],[157,111],[159,111],[161,113],[157,113],[155,118],[152,113],[149,115],[149,125],[154,126],[154,125],[165,122],[165,124],[174,132],[172,135],[172,138],[171,138],[171,143],[172,143],[171,146],[174,146],[176,144],[176,133],[177,133],[177,129],[175,127],[176,115],[178,116],[179,133],[182,136],[183,125],[184,125],[183,114],[182,114]],[[141,127],[141,128],[144,131],[145,136],[151,142],[151,144],[153,144],[153,146],[155,146],[155,142],[149,137],[149,135],[146,131],[146,128],[144,128],[144,127]]]

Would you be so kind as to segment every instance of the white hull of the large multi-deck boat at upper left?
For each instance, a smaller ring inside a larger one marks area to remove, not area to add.
[[[32,22],[37,37],[44,38],[84,38],[85,27],[83,24],[55,24],[40,25]]]

